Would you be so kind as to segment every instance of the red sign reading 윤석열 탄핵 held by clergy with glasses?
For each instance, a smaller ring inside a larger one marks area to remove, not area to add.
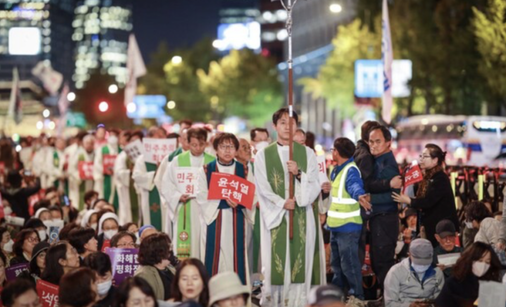
[[[239,176],[217,173],[211,175],[207,199],[230,199],[251,210],[255,184]]]

